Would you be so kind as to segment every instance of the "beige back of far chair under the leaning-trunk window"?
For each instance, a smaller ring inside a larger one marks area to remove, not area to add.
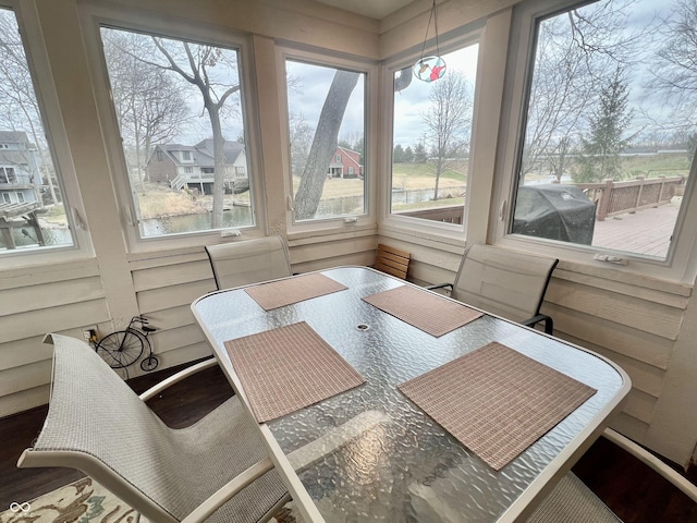
[[[218,289],[231,289],[292,276],[285,243],[280,236],[207,245]]]

